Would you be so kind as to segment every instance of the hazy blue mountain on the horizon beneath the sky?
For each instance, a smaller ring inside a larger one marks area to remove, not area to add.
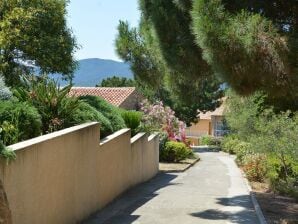
[[[78,61],[78,68],[74,72],[74,86],[94,87],[102,79],[111,76],[133,78],[133,74],[127,63],[89,58]],[[66,84],[66,83],[61,83]]]

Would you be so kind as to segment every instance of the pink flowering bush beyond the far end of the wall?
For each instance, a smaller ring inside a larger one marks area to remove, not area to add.
[[[142,127],[148,132],[165,132],[168,140],[185,142],[185,123],[175,117],[175,111],[164,106],[161,101],[150,104],[148,100],[141,103],[144,113]]]

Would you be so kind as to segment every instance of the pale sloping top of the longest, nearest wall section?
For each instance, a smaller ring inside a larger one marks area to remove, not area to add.
[[[41,135],[41,136],[36,137],[36,138],[32,138],[32,139],[29,139],[29,140],[18,142],[16,144],[9,145],[7,147],[9,149],[13,150],[13,151],[22,150],[22,149],[27,148],[29,146],[36,145],[36,144],[39,144],[39,143],[42,143],[42,142],[45,142],[45,141],[48,141],[48,140],[51,140],[51,139],[54,139],[54,138],[57,138],[57,137],[61,137],[63,135],[67,135],[71,132],[79,131],[81,129],[84,129],[84,128],[87,128],[87,127],[92,127],[92,126],[99,126],[99,123],[98,122],[89,122],[89,123],[73,126],[73,127],[70,127],[70,128],[65,128],[63,130],[55,131],[55,132],[50,133],[50,134]]]

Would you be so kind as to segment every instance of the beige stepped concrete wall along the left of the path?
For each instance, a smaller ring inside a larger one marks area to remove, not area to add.
[[[13,223],[77,223],[158,172],[158,137],[123,129],[99,142],[89,123],[10,146],[1,161]]]

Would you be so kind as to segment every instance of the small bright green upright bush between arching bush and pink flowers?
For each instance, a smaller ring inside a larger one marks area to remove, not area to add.
[[[132,135],[135,135],[141,123],[142,113],[138,111],[123,111],[121,116],[125,122],[126,127],[131,129]]]

